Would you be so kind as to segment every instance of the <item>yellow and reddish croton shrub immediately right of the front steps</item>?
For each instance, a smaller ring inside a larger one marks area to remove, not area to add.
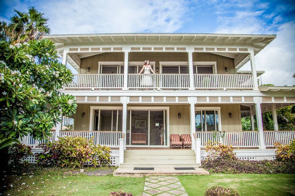
[[[230,159],[236,159],[233,146],[223,145],[217,141],[208,141],[205,143],[205,149],[207,152],[207,158],[213,160],[217,157],[228,157]]]

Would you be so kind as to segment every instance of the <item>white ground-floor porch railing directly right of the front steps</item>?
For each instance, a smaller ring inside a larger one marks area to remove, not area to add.
[[[223,137],[222,137],[223,135]],[[208,140],[218,141],[224,145],[232,145],[233,147],[259,147],[259,132],[258,131],[239,131],[239,132],[213,132],[213,131],[198,131],[197,138],[201,139],[201,147]]]

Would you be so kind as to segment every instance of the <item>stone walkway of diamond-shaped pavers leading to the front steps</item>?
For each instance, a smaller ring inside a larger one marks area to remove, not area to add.
[[[148,176],[142,196],[188,196],[179,179],[175,176]]]

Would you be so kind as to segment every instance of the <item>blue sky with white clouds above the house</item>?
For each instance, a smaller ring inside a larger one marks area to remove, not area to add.
[[[35,6],[49,18],[51,34],[184,32],[276,34],[255,56],[262,83],[294,85],[295,1],[18,1],[0,2],[0,20],[13,9]],[[250,70],[249,63],[241,70]]]

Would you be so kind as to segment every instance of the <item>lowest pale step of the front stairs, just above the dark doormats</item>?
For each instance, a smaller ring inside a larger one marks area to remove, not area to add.
[[[120,168],[198,168],[200,164],[120,164]]]

